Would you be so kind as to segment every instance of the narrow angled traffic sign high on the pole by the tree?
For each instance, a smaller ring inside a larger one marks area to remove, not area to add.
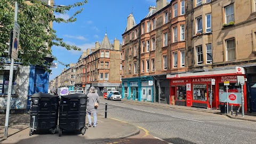
[[[20,39],[20,26],[14,22],[13,37],[12,37],[12,58],[17,60],[19,54],[19,39]]]

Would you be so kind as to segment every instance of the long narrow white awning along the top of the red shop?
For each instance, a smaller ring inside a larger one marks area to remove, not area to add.
[[[244,75],[245,70],[242,67],[235,67],[227,70],[203,71],[198,73],[182,73],[174,75],[166,75],[167,79],[170,78],[186,78],[186,77],[206,77],[206,76],[221,76],[221,75]]]

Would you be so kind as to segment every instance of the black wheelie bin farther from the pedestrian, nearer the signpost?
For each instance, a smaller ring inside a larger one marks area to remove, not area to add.
[[[58,95],[35,93],[31,96],[29,135],[50,130],[55,133],[58,124]]]

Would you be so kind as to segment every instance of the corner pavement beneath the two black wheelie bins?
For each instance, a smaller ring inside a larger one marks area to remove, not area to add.
[[[61,141],[66,141],[67,143],[70,143],[70,140],[71,143],[99,143],[131,137],[132,135],[137,135],[140,132],[139,127],[126,122],[118,121],[114,118],[105,118],[105,116],[100,114],[97,114],[97,118],[97,127],[94,128],[86,126],[86,132],[84,135],[82,135],[80,132],[63,131],[62,136],[59,137],[57,130],[57,132],[53,135],[51,135],[49,132],[29,136],[30,116],[27,114],[11,114],[8,138],[3,139],[5,115],[0,115],[0,143],[57,143],[60,139]]]

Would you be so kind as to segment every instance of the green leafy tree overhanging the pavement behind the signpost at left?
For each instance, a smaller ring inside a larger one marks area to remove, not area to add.
[[[52,50],[47,49],[45,42],[48,43],[49,47],[55,45],[65,47],[67,50],[81,51],[79,47],[63,42],[63,39],[58,37],[52,28],[52,22],[69,23],[76,21],[75,16],[81,13],[83,9],[76,11],[67,20],[55,18],[54,13],[66,14],[70,9],[86,4],[87,0],[62,7],[52,7],[39,0],[17,0],[17,2],[19,5],[18,23],[20,25],[19,62],[22,62],[23,65],[39,65],[47,69],[47,65],[49,66],[50,63],[45,58],[52,54]],[[0,57],[6,57],[4,51],[9,49],[6,43],[9,43],[10,30],[13,29],[14,25],[14,6],[15,0],[0,1]],[[57,60],[54,55],[51,57]]]

